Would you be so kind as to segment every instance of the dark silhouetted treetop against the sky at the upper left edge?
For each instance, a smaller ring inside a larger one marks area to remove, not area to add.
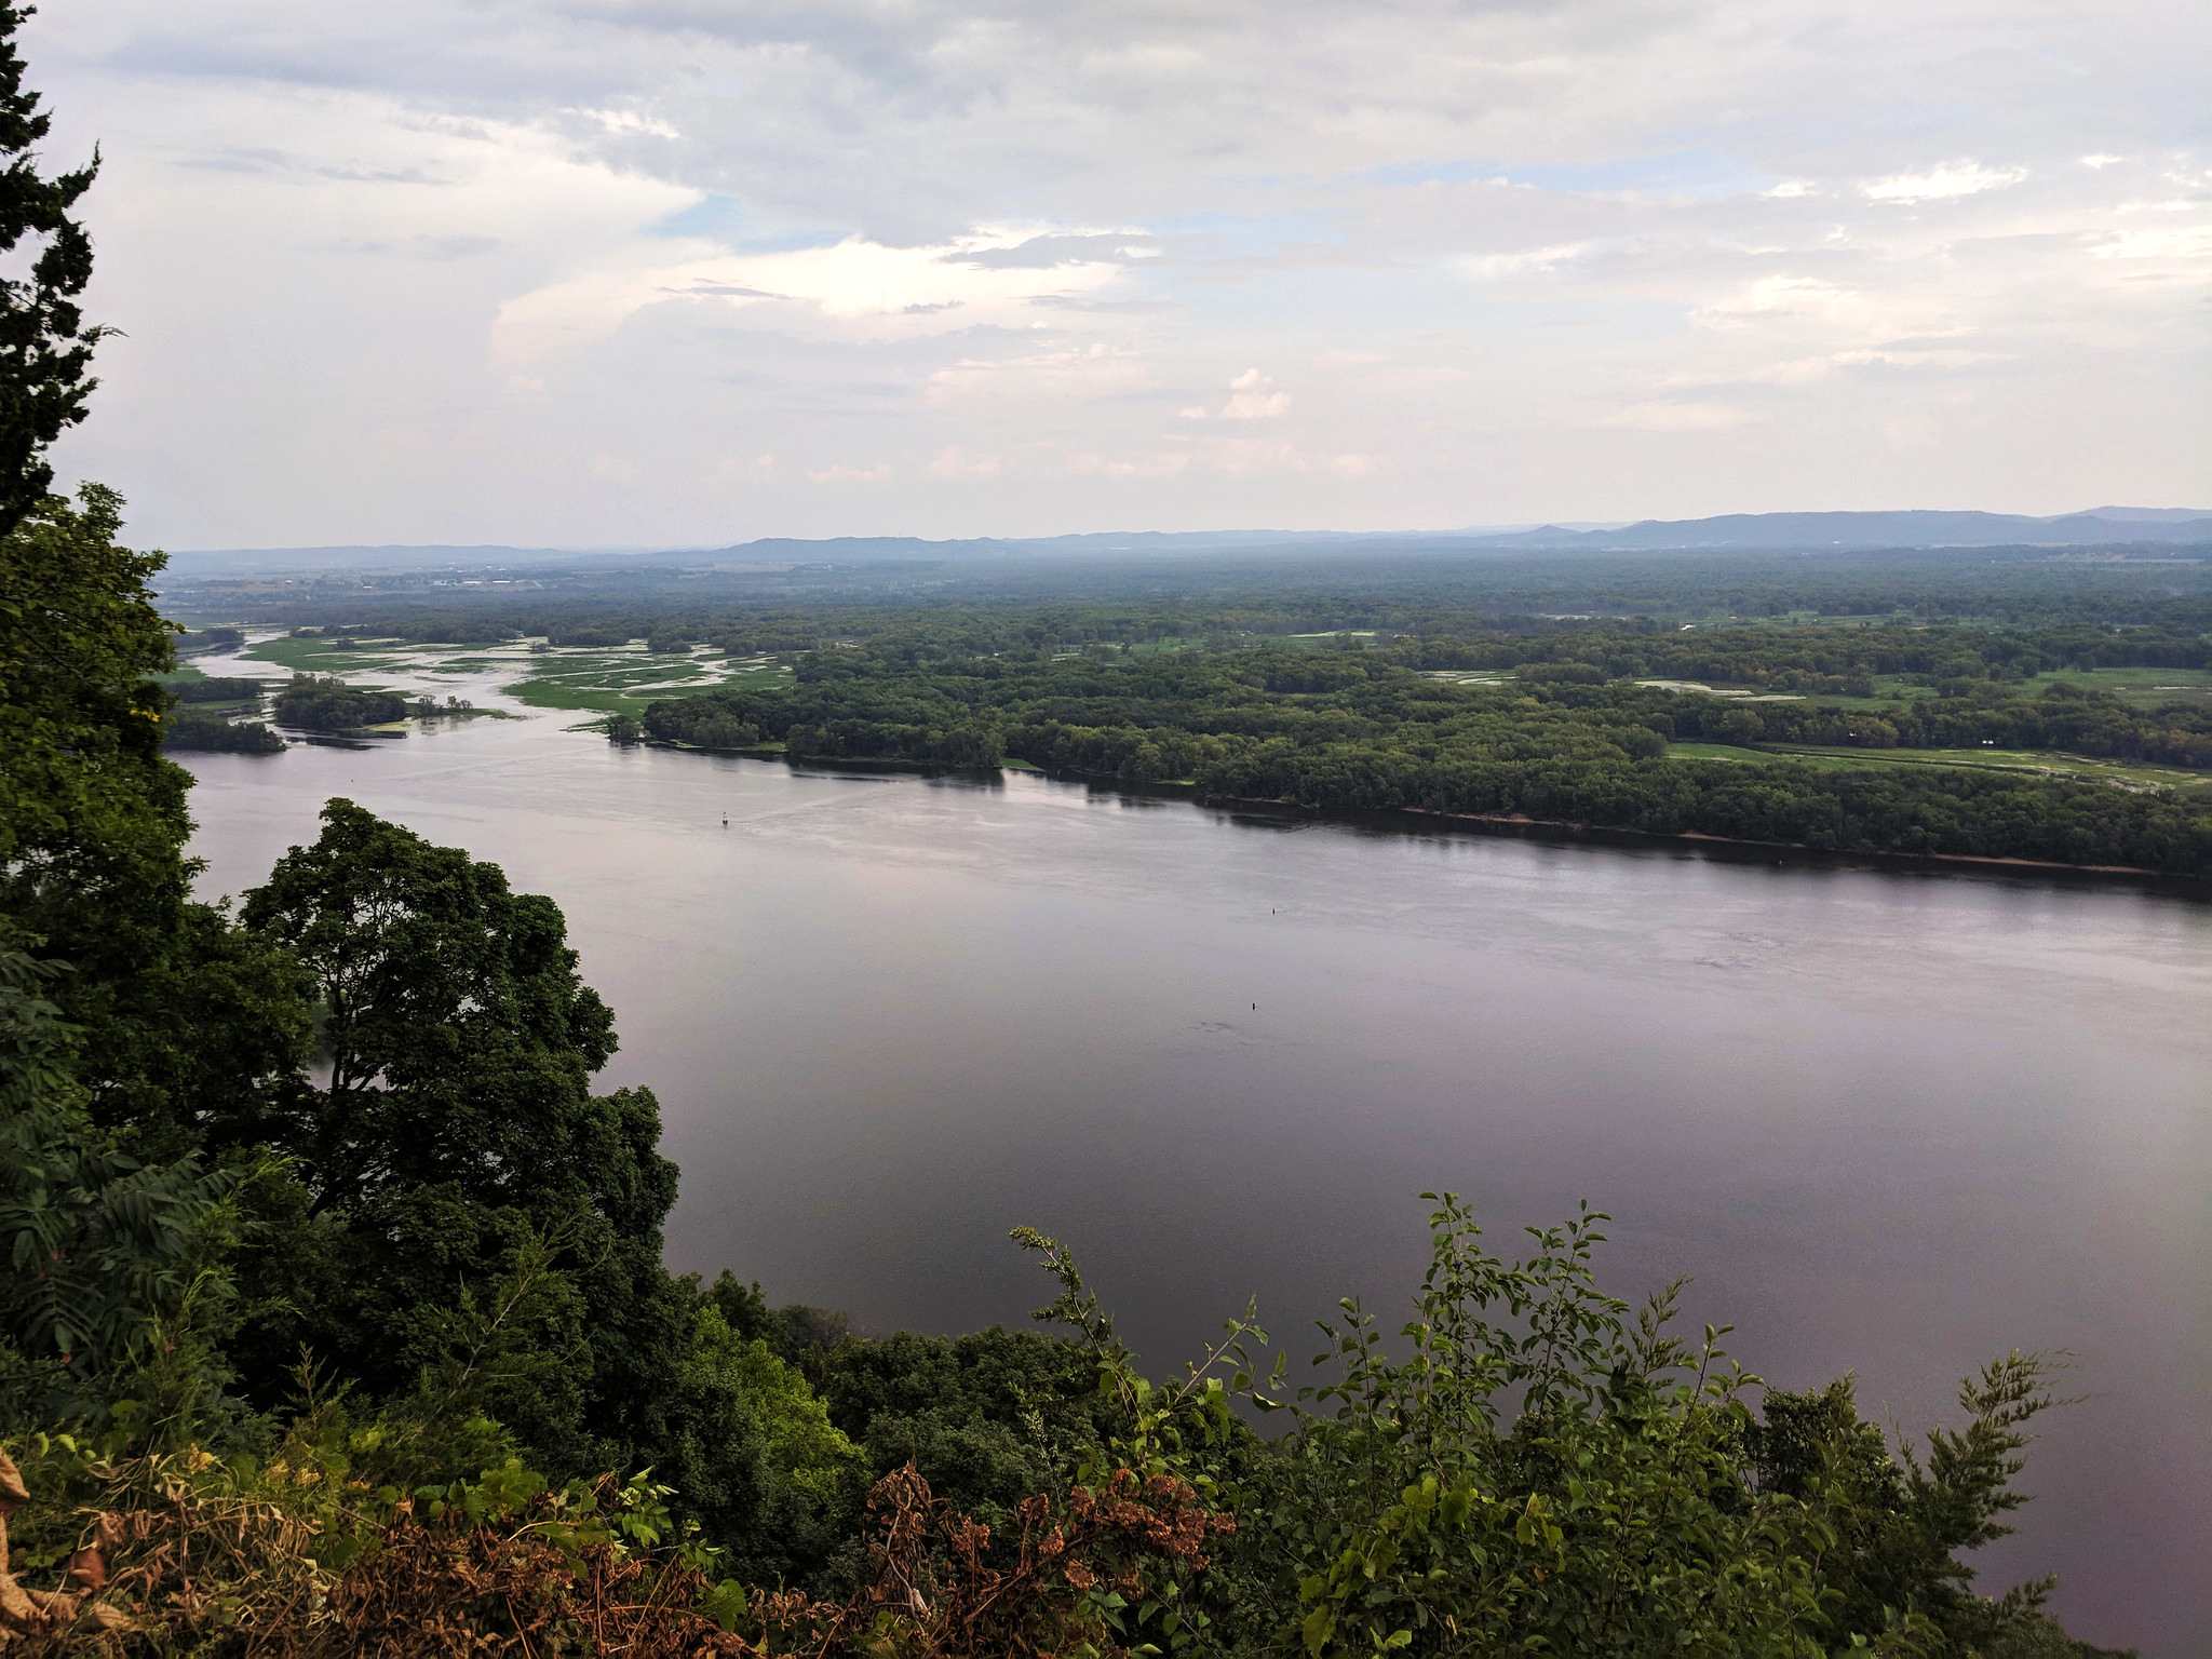
[[[46,447],[84,420],[93,345],[77,296],[93,274],[93,241],[73,217],[100,173],[100,153],[75,173],[40,173],[38,144],[53,124],[22,84],[15,31],[33,7],[0,4],[0,257],[40,239],[29,274],[0,281],[0,535],[40,509],[53,484]],[[13,261],[11,261],[13,263]]]

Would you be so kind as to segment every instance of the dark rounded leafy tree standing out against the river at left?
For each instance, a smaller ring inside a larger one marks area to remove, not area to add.
[[[655,1389],[688,1345],[688,1298],[661,1267],[675,1166],[650,1091],[591,1093],[615,1026],[560,907],[330,801],[321,838],[248,894],[243,925],[296,953],[330,1068],[239,1128],[299,1177],[294,1214],[250,1256],[252,1290],[294,1310],[261,1321],[259,1369],[310,1340],[372,1389],[400,1389],[440,1352],[438,1310],[491,1294],[531,1239],[557,1239],[584,1371],[584,1416],[564,1433],[613,1442],[602,1451],[655,1442]],[[549,1427],[535,1444],[555,1440]]]

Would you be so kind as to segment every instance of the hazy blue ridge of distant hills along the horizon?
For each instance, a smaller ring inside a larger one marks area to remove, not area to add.
[[[1467,549],[1767,549],[1823,551],[1871,546],[2212,546],[2212,509],[2093,507],[2086,513],[2028,518],[2024,513],[1905,511],[1905,513],[1721,513],[1717,518],[1635,524],[1542,524],[1537,529],[1455,531],[1091,531],[1082,535],[967,538],[931,542],[920,535],[832,535],[818,540],[772,535],[701,549],[557,549],[557,546],[257,546],[192,549],[170,555],[184,577],[254,575],[316,568],[436,571],[544,566],[599,560],[622,564],[878,564],[889,560],[1053,557],[1113,553],[1225,553],[1267,546],[1367,544],[1418,540],[1422,546]]]

